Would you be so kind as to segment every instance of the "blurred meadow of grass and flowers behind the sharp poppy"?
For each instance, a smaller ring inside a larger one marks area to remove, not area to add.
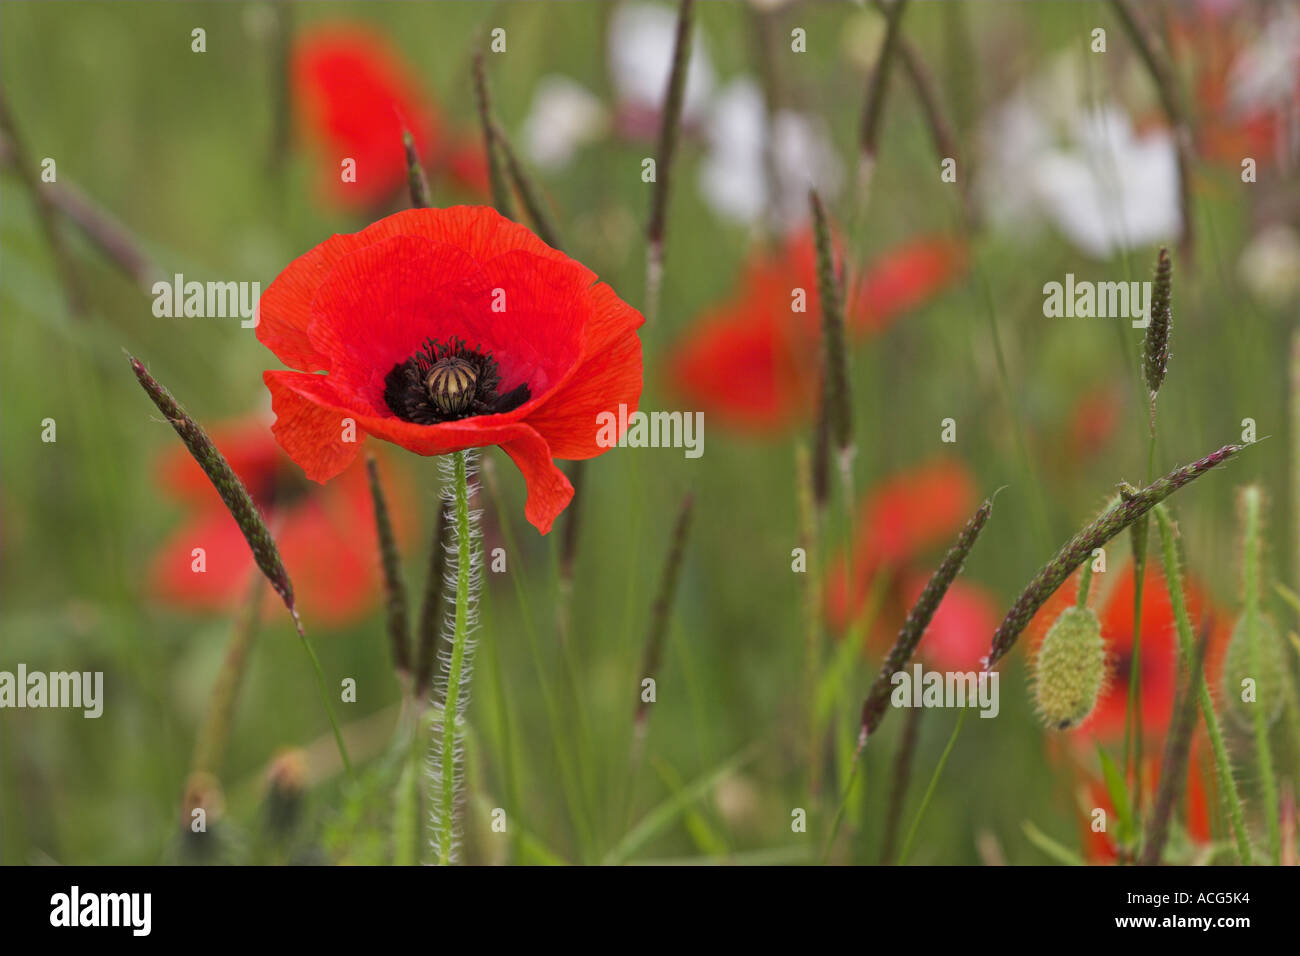
[[[904,711],[883,723],[824,855],[862,697],[907,604],[980,499],[1006,486],[962,591],[922,643],[927,666],[976,669],[1030,576],[1118,483],[1147,480],[1141,332],[1124,319],[1046,317],[1043,287],[1067,273],[1149,280],[1161,246],[1174,261],[1174,308],[1154,473],[1242,441],[1244,419],[1268,437],[1170,506],[1197,613],[1213,619],[1222,649],[1242,604],[1236,488],[1262,486],[1264,606],[1280,626],[1294,691],[1286,635],[1296,610],[1273,584],[1295,589],[1300,578],[1297,423],[1288,416],[1288,376],[1300,364],[1300,14],[1262,1],[1138,7],[1171,59],[1191,122],[1187,208],[1169,118],[1110,4],[909,4],[901,35],[941,112],[957,182],[942,179],[935,125],[900,61],[870,189],[858,178],[859,127],[881,12],[870,3],[697,4],[660,302],[641,330],[641,407],[703,411],[703,455],[618,449],[586,466],[564,628],[566,518],[540,536],[524,522],[516,470],[499,450],[485,451],[502,503],[481,494],[485,546],[504,546],[508,570],[484,575],[467,861],[897,858],[956,713],[913,722]],[[341,187],[338,157],[350,153],[330,137],[365,130],[313,126],[313,96],[355,95],[363,109],[376,87],[403,91],[404,111],[426,126],[436,204],[490,202],[471,74],[481,49],[493,109],[566,251],[644,308],[651,186],[641,164],[656,153],[675,17],[675,5],[656,3],[0,5],[0,670],[23,662],[104,672],[99,719],[0,714],[0,860],[399,858],[402,695],[364,470],[308,489],[287,459],[277,462],[274,446],[264,447],[261,372],[280,363],[238,317],[155,315],[148,277],[265,290],[330,234],[406,207],[400,169],[395,183],[378,183],[363,168],[364,199]],[[191,49],[196,27],[202,53]],[[506,51],[490,52],[498,27]],[[1105,52],[1092,49],[1098,27]],[[796,51],[798,31],[805,48]],[[347,55],[356,60],[339,68],[348,79],[335,88],[304,64],[322,38],[341,36],[355,39]],[[53,216],[64,265],[83,289],[82,315],[18,173],[26,163],[39,177],[46,157],[57,178],[39,189],[61,190]],[[1243,182],[1244,157],[1254,160],[1253,182]],[[775,316],[789,317],[793,287],[815,287],[810,185],[854,290],[857,457],[852,514],[832,475],[822,544],[797,572],[792,550],[810,544],[797,463],[815,446],[807,399],[820,346],[798,330],[783,337]],[[70,196],[118,225],[143,256],[135,276],[66,215]],[[1190,248],[1180,242],[1187,212]],[[341,773],[315,676],[287,615],[270,604],[220,767],[202,784],[191,778],[213,683],[240,610],[247,615],[252,566],[238,538],[222,550],[233,524],[211,489],[187,484],[181,446],[133,381],[124,349],[212,431],[237,470],[260,470],[328,684],[356,682],[355,702],[334,708],[358,782]],[[56,423],[53,442],[43,441],[46,419]],[[956,441],[942,441],[945,419]],[[385,470],[415,617],[437,467],[374,440],[367,446]],[[641,661],[686,493],[693,522],[638,745]],[[850,541],[855,559],[845,570]],[[188,571],[200,542],[211,578],[202,585]],[[1108,550],[1093,605],[1123,661],[1131,607],[1101,606],[1123,591],[1126,568],[1131,592],[1128,536]],[[1149,563],[1156,610],[1144,639],[1152,657],[1160,648],[1166,657],[1144,672],[1143,692],[1167,727],[1173,620],[1154,544]],[[827,605],[815,667],[810,589]],[[866,593],[884,596],[870,626],[861,622]],[[1030,648],[1022,639],[1001,666],[997,718],[966,722],[910,862],[1115,858],[1114,832],[1095,834],[1089,822],[1093,808],[1114,803],[1096,747],[1119,762],[1122,731],[1100,717],[1079,731],[1043,728]],[[1126,687],[1113,678],[1104,701],[1112,717],[1115,706],[1122,715]],[[1219,698],[1218,683],[1214,691]],[[1292,717],[1274,728],[1291,819],[1300,771]],[[1161,753],[1154,723],[1150,760]],[[1254,744],[1228,731],[1262,844]],[[907,732],[914,744],[902,747]],[[1192,775],[1204,790],[1197,804],[1197,788],[1187,788],[1169,857],[1226,862],[1231,838],[1205,754],[1197,739]],[[1144,806],[1157,777],[1144,770]],[[900,780],[906,790],[890,796]],[[205,792],[187,793],[196,786]],[[202,848],[187,826],[195,801],[220,838]],[[491,830],[494,808],[506,810],[506,834]],[[798,809],[806,831],[792,827]],[[1294,827],[1287,839],[1294,858]]]

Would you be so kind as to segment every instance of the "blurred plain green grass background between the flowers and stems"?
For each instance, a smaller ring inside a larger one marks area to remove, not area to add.
[[[933,65],[963,143],[971,142],[979,112],[1010,81],[1065,48],[1079,51],[1092,95],[1127,96],[1086,49],[1083,38],[1098,23],[1110,27],[1114,47],[1122,44],[1102,5],[950,7],[914,5],[906,30]],[[251,26],[265,14],[256,4],[0,7],[0,79],[29,151],[56,157],[60,179],[75,182],[127,224],[168,274],[255,280],[265,287],[295,255],[364,225],[318,203],[306,151],[291,151],[282,176],[268,172],[270,55]],[[807,30],[809,52],[783,56],[780,69],[805,105],[831,124],[852,170],[864,73],[848,57],[846,36],[861,35],[848,27],[871,23],[874,14],[848,4],[805,4],[781,16],[786,34],[796,25]],[[445,113],[467,130],[473,130],[469,51],[484,29],[504,26],[508,53],[489,60],[490,82],[516,139],[538,77],[559,72],[608,92],[606,17],[593,3],[295,5],[299,25],[355,18],[386,33],[417,65]],[[195,26],[207,30],[204,55],[190,52]],[[753,72],[751,22],[742,7],[701,4],[699,26],[720,77]],[[972,31],[979,60],[958,55],[956,29]],[[901,79],[893,83],[883,135],[863,248],[874,254],[922,232],[958,229],[954,194],[939,181],[928,133]],[[650,152],[649,144],[603,142],[562,174],[541,177],[569,251],[637,306],[644,297],[638,230],[649,206],[640,160]],[[662,321],[642,334],[649,408],[677,407],[664,389],[664,355],[696,315],[728,293],[750,246],[744,229],[715,219],[699,199],[698,142],[686,142],[680,160]],[[1296,574],[1287,533],[1296,516],[1286,492],[1294,308],[1269,311],[1236,282],[1236,258],[1252,226],[1243,190],[1252,187],[1231,169],[1201,166],[1200,176],[1200,258],[1195,268],[1180,264],[1176,272],[1157,462],[1164,471],[1235,441],[1247,416],[1257,420],[1260,434],[1273,436],[1174,502],[1193,572],[1231,606],[1238,588],[1234,484],[1264,484],[1271,499],[1270,568],[1282,580]],[[436,183],[438,202],[456,198]],[[83,321],[69,316],[31,199],[12,173],[0,179],[0,667],[13,670],[22,661],[32,670],[103,670],[107,697],[98,721],[58,710],[0,714],[0,858],[155,862],[176,840],[194,735],[229,622],[168,609],[147,592],[148,557],[182,516],[159,497],[151,470],[176,438],[133,381],[122,350],[142,356],[207,423],[265,407],[260,372],[277,363],[235,320],[155,317],[150,300],[73,230],[65,234],[87,278],[92,313]],[[844,219],[848,207],[833,212]],[[602,217],[624,222],[615,241],[593,228]],[[1123,328],[1117,334],[1102,320],[1048,321],[1041,286],[1066,272],[1145,278],[1153,259],[1153,250],[1141,250],[1089,263],[1056,237],[1027,247],[1014,235],[985,234],[979,271],[968,281],[854,352],[859,489],[941,451],[961,455],[983,492],[1010,485],[966,570],[1002,602],[1118,481],[1145,476],[1140,333]],[[1009,382],[994,359],[994,323]],[[1108,381],[1127,385],[1119,438],[1106,455],[1075,468],[1062,458],[1066,416],[1079,395]],[[956,449],[939,442],[939,421],[949,415],[959,421]],[[57,444],[40,441],[44,418],[57,420]],[[1028,471],[1017,453],[1018,429]],[[554,626],[558,536],[541,538],[524,524],[517,473],[499,453],[489,453],[507,502],[499,519],[512,524],[520,542],[510,575],[520,579],[530,613],[510,580],[486,576],[469,711],[472,860],[502,858],[499,838],[493,843],[482,832],[481,810],[507,806],[511,825],[526,831],[514,858],[599,861],[675,788],[738,753],[748,758],[736,774],[753,795],[751,814],[727,817],[706,793],[690,814],[655,829],[634,858],[816,856],[833,804],[829,795],[812,800],[806,793],[802,581],[790,572],[794,444],[807,436],[758,442],[706,421],[705,437],[697,460],[673,450],[627,450],[589,468],[567,654]],[[422,542],[436,467],[415,457],[399,464],[422,490],[422,520],[411,535]],[[697,498],[696,524],[647,761],[633,777],[628,734],[637,659],[677,502],[688,489]],[[1035,522],[1036,509],[1045,527]],[[406,555],[412,589],[420,587],[422,549]],[[378,613],[315,637],[332,684],[344,675],[358,680],[359,701],[337,705],[346,722],[396,701]],[[875,667],[862,657],[844,682],[837,710],[845,734]],[[1032,718],[1023,657],[1015,654],[1004,671],[1001,715],[967,721],[913,853],[916,862],[978,862],[980,832],[998,840],[1009,862],[1045,862],[1024,838],[1024,821],[1066,845],[1078,843],[1078,809]],[[953,719],[940,713],[923,721],[905,821]],[[872,861],[879,852],[901,726],[901,719],[888,721],[868,749],[864,793],[849,808],[837,858]],[[255,649],[226,761],[228,817],[235,829],[251,830],[257,819],[266,760],[326,732],[292,630],[273,618]],[[517,805],[508,803],[510,780]],[[372,783],[382,803],[384,782]],[[356,822],[364,799],[339,778],[315,787],[308,800],[312,827],[334,834],[335,855],[382,856],[386,818]],[[801,806],[810,814],[807,834],[790,830],[790,812]]]

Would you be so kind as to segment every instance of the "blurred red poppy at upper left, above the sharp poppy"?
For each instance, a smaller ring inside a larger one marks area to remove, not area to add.
[[[370,209],[406,189],[403,129],[430,168],[486,194],[482,148],[442,129],[417,73],[369,27],[334,22],[303,30],[294,39],[291,83],[299,124],[325,153],[320,178],[333,202]],[[343,179],[344,159],[356,164],[354,182]]]

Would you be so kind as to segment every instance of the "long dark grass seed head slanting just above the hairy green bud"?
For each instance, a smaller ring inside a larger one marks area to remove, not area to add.
[[[993,633],[993,644],[989,648],[987,667],[993,669],[997,666],[997,662],[1015,644],[1015,639],[1020,636],[1020,632],[1030,623],[1035,611],[1056,593],[1056,589],[1061,587],[1066,578],[1074,574],[1074,570],[1084,559],[1092,555],[1095,548],[1106,544],[1106,541],[1150,511],[1179,488],[1195,481],[1240,450],[1240,445],[1225,445],[1218,451],[1206,455],[1199,462],[1174,468],[1174,471],[1152,481],[1141,490],[1131,490],[1122,494],[1119,501],[1066,541],[1056,557],[1039,568],[1039,572],[1034,575],[1034,579],[1026,585],[1024,591],[1015,600],[1015,604],[1006,613],[1002,623]]]

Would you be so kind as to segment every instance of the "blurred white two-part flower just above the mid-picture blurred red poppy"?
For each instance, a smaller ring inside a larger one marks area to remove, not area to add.
[[[770,160],[764,156],[768,137]],[[775,183],[770,183],[772,177]],[[809,187],[829,198],[838,193],[841,181],[842,170],[822,122],[779,111],[768,131],[763,94],[750,77],[733,79],[718,95],[699,190],[720,216],[753,225],[771,212],[777,225],[793,229],[807,219]]]

